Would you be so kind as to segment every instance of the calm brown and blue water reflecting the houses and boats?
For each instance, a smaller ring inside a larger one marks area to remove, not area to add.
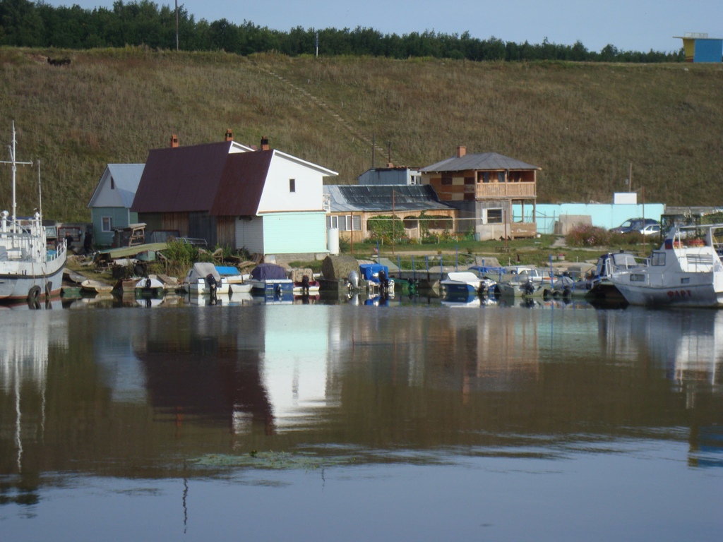
[[[723,311],[0,317],[3,541],[723,535]]]

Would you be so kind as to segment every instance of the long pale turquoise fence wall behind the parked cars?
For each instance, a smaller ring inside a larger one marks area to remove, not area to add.
[[[538,203],[536,209],[536,224],[538,233],[553,233],[555,221],[560,215],[589,215],[592,225],[600,228],[615,228],[628,218],[653,218],[660,222],[660,215],[665,212],[662,203],[642,204],[605,204],[605,203]],[[513,205],[513,220],[522,220],[522,206]],[[532,220],[532,205],[525,205],[524,220]]]

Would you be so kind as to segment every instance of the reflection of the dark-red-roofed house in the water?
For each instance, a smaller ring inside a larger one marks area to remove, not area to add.
[[[325,403],[325,307],[305,311],[179,311],[135,340],[154,408],[267,434]],[[305,314],[305,317],[300,317]],[[179,329],[184,332],[179,333]]]

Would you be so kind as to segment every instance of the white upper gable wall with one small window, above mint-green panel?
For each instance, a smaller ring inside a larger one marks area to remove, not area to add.
[[[259,213],[322,210],[322,179],[325,173],[274,152],[269,165]],[[295,192],[289,191],[294,179]]]

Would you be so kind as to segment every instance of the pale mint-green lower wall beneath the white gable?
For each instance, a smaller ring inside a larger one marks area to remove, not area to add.
[[[326,251],[324,211],[279,212],[264,215],[265,254]]]

